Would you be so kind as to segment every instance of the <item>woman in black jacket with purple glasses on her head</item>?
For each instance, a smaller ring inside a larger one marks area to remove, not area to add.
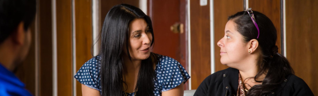
[[[217,45],[221,63],[230,68],[208,76],[194,96],[314,96],[278,53],[276,28],[268,17],[250,8],[228,20]]]

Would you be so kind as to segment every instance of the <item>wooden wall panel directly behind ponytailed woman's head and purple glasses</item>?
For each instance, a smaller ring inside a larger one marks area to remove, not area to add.
[[[249,0],[248,6],[252,10],[259,11],[271,19],[277,30],[276,45],[279,48],[278,52],[281,53],[280,0]]]

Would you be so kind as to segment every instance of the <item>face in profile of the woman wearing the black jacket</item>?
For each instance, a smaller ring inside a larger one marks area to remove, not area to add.
[[[243,41],[243,36],[235,29],[235,23],[230,20],[225,25],[225,34],[218,41],[221,47],[221,63],[232,68],[238,68],[248,57],[248,43]]]

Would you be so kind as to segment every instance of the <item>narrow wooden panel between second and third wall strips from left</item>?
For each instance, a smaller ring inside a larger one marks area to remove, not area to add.
[[[72,95],[72,2],[56,0],[57,95]]]

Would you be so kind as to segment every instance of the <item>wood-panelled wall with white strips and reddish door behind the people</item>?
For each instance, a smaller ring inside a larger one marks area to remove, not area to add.
[[[121,3],[139,7],[153,22],[152,51],[175,58],[197,89],[208,75],[226,69],[216,45],[227,18],[247,8],[268,16],[276,45],[318,95],[318,0],[37,0],[33,42],[16,75],[35,96],[81,96],[73,75],[98,53],[96,37],[108,10]],[[96,44],[95,44],[96,43]],[[94,45],[95,44],[95,45]],[[94,46],[93,46],[94,45]]]

